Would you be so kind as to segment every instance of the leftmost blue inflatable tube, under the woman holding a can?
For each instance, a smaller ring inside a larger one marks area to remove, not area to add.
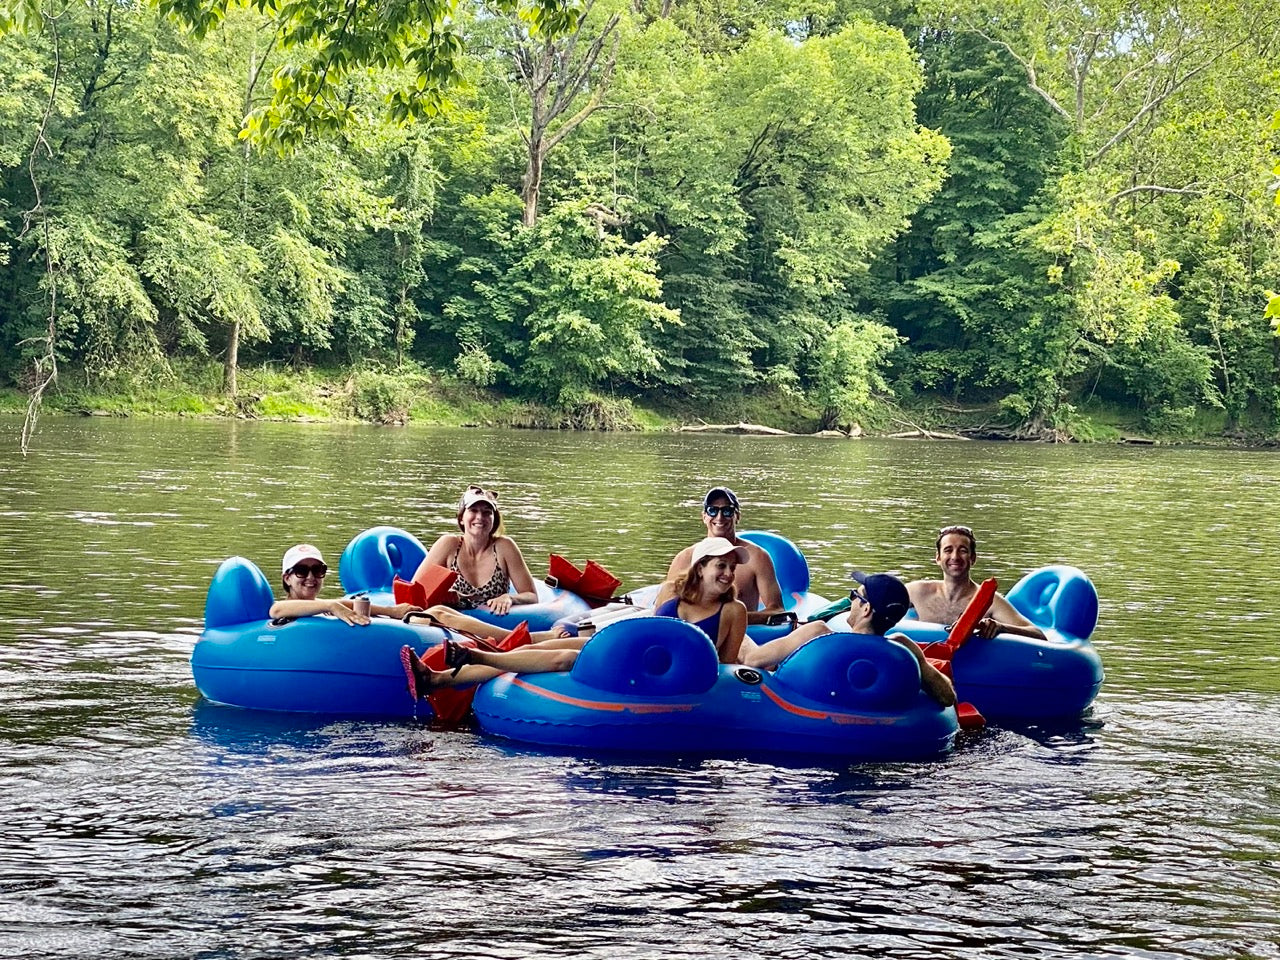
[[[367,717],[430,717],[404,689],[399,649],[419,654],[444,632],[375,617],[349,626],[337,617],[268,620],[271,588],[252,562],[232,557],[214,575],[205,631],[191,654],[200,694],[256,710]],[[415,709],[416,707],[416,709]]]

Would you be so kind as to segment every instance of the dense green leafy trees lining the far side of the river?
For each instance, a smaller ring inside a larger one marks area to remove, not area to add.
[[[1277,28],[0,0],[0,378],[412,364],[566,410],[937,392],[1037,434],[1091,401],[1274,433]]]

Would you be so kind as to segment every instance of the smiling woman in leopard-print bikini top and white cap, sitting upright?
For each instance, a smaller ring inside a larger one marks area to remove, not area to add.
[[[422,563],[448,567],[457,572],[453,589],[458,607],[485,607],[508,613],[515,604],[538,603],[534,575],[516,545],[502,532],[498,494],[471,484],[458,499],[458,530],[445,534],[426,553]],[[511,593],[515,585],[516,593]]]

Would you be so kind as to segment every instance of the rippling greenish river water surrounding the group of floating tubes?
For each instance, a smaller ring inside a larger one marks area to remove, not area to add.
[[[0,420],[0,956],[1280,957],[1271,452]],[[928,575],[1102,596],[1087,721],[927,764],[549,755],[474,731],[202,704],[230,554],[430,543],[462,485],[627,586],[744,526]]]

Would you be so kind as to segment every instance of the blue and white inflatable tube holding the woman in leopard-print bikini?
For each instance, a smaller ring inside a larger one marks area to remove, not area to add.
[[[396,577],[412,580],[426,558],[426,548],[413,536],[394,526],[375,526],[356,534],[338,561],[342,589],[351,594],[367,594],[378,604],[392,605],[392,584]],[[524,603],[511,613],[493,613],[484,607],[462,611],[470,617],[511,630],[522,621],[530,630],[550,630],[558,620],[586,616],[591,605],[577,594],[558,590],[535,580],[538,603]]]

